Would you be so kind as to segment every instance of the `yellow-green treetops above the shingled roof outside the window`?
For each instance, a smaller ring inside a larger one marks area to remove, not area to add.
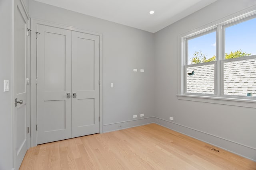
[[[206,59],[206,56],[202,53],[202,51],[197,51],[194,54],[194,57],[191,59],[191,64],[197,64],[197,63],[207,63],[210,61],[215,61],[216,56],[214,55],[210,59]],[[235,52],[225,53],[225,59],[234,59],[238,57],[244,57],[251,55],[251,53],[244,53],[242,50],[237,50]]]

